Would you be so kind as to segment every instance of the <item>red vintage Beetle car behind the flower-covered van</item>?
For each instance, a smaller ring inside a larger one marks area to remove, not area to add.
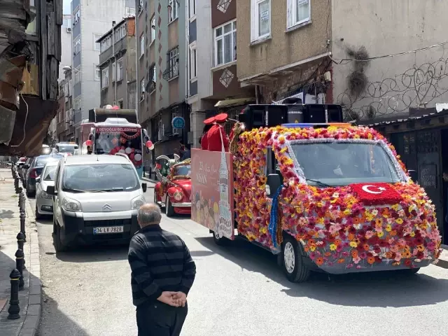
[[[165,207],[165,214],[191,214],[191,167],[190,160],[174,165],[168,176],[154,187],[154,203]]]

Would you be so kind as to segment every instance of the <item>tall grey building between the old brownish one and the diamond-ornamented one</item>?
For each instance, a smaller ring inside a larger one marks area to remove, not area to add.
[[[155,144],[151,160],[188,141],[186,1],[136,1],[137,111]],[[172,126],[178,116],[183,128]]]

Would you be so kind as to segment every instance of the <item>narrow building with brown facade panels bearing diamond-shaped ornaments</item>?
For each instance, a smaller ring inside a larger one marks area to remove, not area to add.
[[[237,78],[237,1],[189,0],[187,14],[189,140],[198,147],[204,119],[219,112],[235,119],[255,102],[255,87]]]

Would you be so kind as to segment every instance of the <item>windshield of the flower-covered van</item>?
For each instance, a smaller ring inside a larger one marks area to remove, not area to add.
[[[400,181],[391,158],[380,144],[322,142],[293,144],[292,148],[311,185]]]

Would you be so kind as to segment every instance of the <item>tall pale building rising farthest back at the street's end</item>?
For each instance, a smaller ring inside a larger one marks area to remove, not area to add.
[[[100,43],[97,42],[112,22],[135,15],[134,0],[73,0],[71,1],[73,52],[73,109],[75,141],[78,141],[81,120],[88,111],[100,107],[101,76],[99,73]]]

